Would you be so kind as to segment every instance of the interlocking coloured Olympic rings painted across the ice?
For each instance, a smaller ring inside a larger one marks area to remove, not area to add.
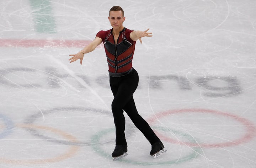
[[[56,108],[58,109],[58,108]],[[56,110],[54,109],[54,110]],[[62,108],[63,109],[63,108]],[[76,110],[93,110],[95,111],[95,109],[92,108],[65,108],[66,110],[72,110],[72,109],[76,109]],[[53,109],[51,109],[51,111],[47,111],[44,114],[48,114],[52,111],[54,111]],[[58,110],[57,110],[58,111]],[[186,140],[181,143],[181,141],[176,141],[179,145],[184,144],[187,146],[191,146],[191,151],[190,153],[188,153],[186,156],[184,156],[183,158],[178,158],[177,160],[173,159],[173,160],[169,160],[166,162],[141,162],[141,161],[131,161],[129,159],[121,159],[121,162],[127,162],[127,163],[132,163],[132,164],[137,164],[137,165],[142,165],[142,166],[154,166],[154,165],[163,165],[163,164],[177,164],[177,163],[182,163],[182,162],[186,162],[189,161],[191,159],[196,158],[197,156],[200,155],[201,153],[201,147],[223,147],[223,146],[234,146],[234,145],[238,145],[241,144],[242,142],[247,142],[249,140],[251,140],[255,135],[255,131],[256,128],[254,127],[255,124],[251,123],[249,120],[245,119],[245,118],[241,118],[238,116],[235,116],[234,114],[228,114],[228,113],[224,113],[224,112],[220,112],[220,111],[214,111],[214,110],[207,110],[207,109],[182,109],[182,110],[171,110],[171,111],[166,111],[166,112],[162,112],[162,113],[158,113],[155,115],[156,118],[161,118],[164,116],[167,116],[169,114],[177,114],[177,113],[186,113],[186,112],[194,112],[194,113],[209,113],[209,114],[214,114],[217,116],[224,116],[224,117],[229,117],[232,120],[234,120],[235,122],[239,122],[241,123],[246,132],[244,133],[244,135],[239,138],[239,139],[235,139],[232,141],[228,141],[228,142],[220,142],[220,143],[212,143],[212,144],[207,144],[207,143],[198,143],[198,141],[196,141],[191,135],[189,134],[185,134],[185,133],[181,133],[178,132],[177,130],[169,130],[169,128],[162,128],[162,127],[155,127],[156,130],[161,130],[161,131],[171,131],[172,133],[176,134],[176,135],[180,135],[182,137],[185,137]],[[31,116],[29,119],[27,119],[27,123],[32,123],[34,122],[35,119],[37,119],[37,117],[39,116],[38,114],[34,114],[33,116]],[[76,138],[72,135],[69,135],[67,133],[65,133],[64,131],[55,129],[55,128],[51,128],[51,127],[46,127],[46,126],[39,126],[39,125],[34,125],[34,124],[17,124],[14,125],[10,119],[6,119],[5,116],[2,116],[0,114],[0,118],[4,119],[5,123],[7,122],[7,126],[3,127],[4,130],[2,131],[2,133],[0,133],[0,138],[9,135],[12,131],[13,131],[13,127],[20,127],[20,128],[24,128],[24,129],[29,129],[30,133],[32,133],[33,135],[37,135],[39,137],[44,139],[49,139],[49,136],[45,136],[42,134],[37,133],[36,129],[41,129],[41,130],[46,130],[46,131],[50,131],[52,133],[55,134],[59,134],[60,136],[64,137],[65,140],[57,140],[57,139],[51,139],[51,142],[59,142],[62,144],[68,144],[71,145],[69,147],[69,149],[56,157],[53,158],[43,158],[43,159],[6,159],[6,158],[2,158],[2,162],[3,163],[12,163],[12,164],[23,164],[23,165],[27,165],[27,164],[45,164],[45,163],[52,163],[52,162],[59,162],[62,161],[64,159],[70,158],[71,156],[73,156],[79,149],[79,146],[84,143],[84,142],[78,142],[76,140]],[[155,123],[156,122],[156,118],[152,119],[150,118],[148,121],[149,123]],[[102,131],[98,131],[97,134],[92,135],[91,137],[91,143],[87,143],[90,146],[92,146],[92,148],[95,150],[95,152],[99,152],[100,155],[105,156],[105,157],[109,157],[109,153],[106,153],[105,151],[103,151],[101,149],[101,145],[103,144],[107,144],[107,143],[112,143],[112,141],[110,142],[102,142],[100,141],[100,139],[103,139],[102,137],[104,135],[107,135],[108,133],[110,133],[111,131],[114,131],[114,129],[106,129],[106,130],[102,130]],[[170,138],[170,137],[166,137],[163,134],[156,132],[159,136],[160,139],[166,140],[167,142],[174,142],[174,139]],[[41,136],[42,135],[42,136]],[[64,143],[66,142],[66,143]]]

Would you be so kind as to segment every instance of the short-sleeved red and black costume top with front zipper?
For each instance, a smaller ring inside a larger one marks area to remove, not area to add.
[[[130,39],[130,33],[133,30],[124,28],[119,32],[116,44],[112,31],[113,29],[101,30],[96,34],[96,37],[101,38],[104,44],[110,76],[118,77],[132,71],[132,59],[136,41]]]

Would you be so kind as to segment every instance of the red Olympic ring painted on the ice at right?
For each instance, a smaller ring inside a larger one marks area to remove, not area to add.
[[[183,142],[183,141],[181,142],[181,141],[174,140],[172,138],[166,137],[166,136],[156,132],[156,134],[159,136],[160,139],[167,140],[169,142],[173,142],[173,143],[177,143],[177,144],[184,144],[184,145],[188,145],[188,146],[227,147],[227,146],[235,146],[235,145],[239,145],[244,142],[248,142],[255,136],[255,132],[256,132],[255,124],[251,123],[248,119],[235,116],[234,114],[228,114],[228,113],[215,111],[215,110],[209,110],[209,109],[191,108],[191,109],[165,111],[165,112],[156,114],[154,117],[151,117],[148,120],[148,122],[153,124],[156,122],[156,119],[167,116],[169,114],[183,113],[183,112],[213,113],[213,114],[218,114],[218,115],[222,115],[222,116],[227,116],[227,117],[234,119],[235,121],[242,123],[246,128],[246,133],[244,134],[244,136],[242,136],[239,139],[235,139],[234,141],[215,143],[215,144],[194,144],[191,142]]]

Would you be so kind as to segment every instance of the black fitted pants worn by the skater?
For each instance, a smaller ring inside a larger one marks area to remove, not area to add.
[[[124,134],[125,118],[123,110],[130,117],[134,125],[143,133],[146,139],[149,140],[151,145],[160,141],[149,124],[139,115],[136,109],[133,93],[137,89],[138,83],[139,75],[135,69],[122,77],[110,76],[110,87],[114,95],[112,113],[116,126],[116,145],[127,145]]]

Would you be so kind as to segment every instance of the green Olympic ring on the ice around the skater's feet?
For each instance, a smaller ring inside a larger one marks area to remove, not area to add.
[[[166,131],[165,128],[161,128],[161,127],[157,127],[158,129],[161,129],[163,131]],[[105,129],[105,130],[102,130],[102,131],[99,131],[97,132],[95,135],[93,135],[91,137],[91,141],[92,141],[92,144],[95,144],[95,145],[92,145],[92,148],[98,152],[101,156],[104,156],[104,157],[107,157],[109,158],[110,155],[109,153],[106,153],[104,152],[100,145],[97,145],[97,143],[100,143],[100,139],[102,138],[103,135],[106,135],[112,131],[115,131],[114,128],[110,128],[110,129]],[[168,130],[170,131],[170,130]],[[179,131],[173,131],[172,130],[172,133],[175,133],[175,134],[178,134],[178,135],[181,135],[181,136],[184,136],[186,138],[188,138],[188,140],[191,140],[192,142],[196,142],[194,140],[194,138],[188,134],[184,134],[184,133],[181,133]],[[184,163],[184,162],[187,162],[187,161],[190,161],[191,159],[194,159],[198,156],[198,153],[201,153],[201,148],[200,147],[191,147],[192,149],[192,153],[189,153],[187,156],[183,157],[183,158],[178,158],[177,160],[170,160],[170,161],[166,161],[166,162],[162,162],[159,161],[159,163],[151,163],[151,162],[138,162],[138,161],[130,161],[129,159],[120,159],[118,160],[118,162],[127,162],[127,163],[132,163],[132,164],[137,164],[137,165],[140,165],[140,166],[157,166],[157,165],[172,165],[172,164],[178,164],[178,163]],[[152,158],[153,159],[153,158]]]

